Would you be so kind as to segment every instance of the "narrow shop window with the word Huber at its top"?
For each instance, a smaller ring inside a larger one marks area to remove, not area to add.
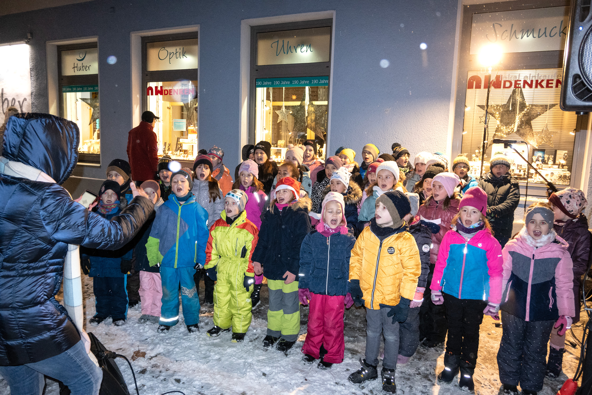
[[[101,113],[96,43],[62,46],[58,50],[62,91],[60,115],[76,123],[80,130],[78,161],[100,163]]]

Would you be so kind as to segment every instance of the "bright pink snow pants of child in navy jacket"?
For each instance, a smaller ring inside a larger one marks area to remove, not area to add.
[[[320,358],[319,349],[327,350],[323,361],[332,364],[343,362],[343,311],[345,296],[327,296],[310,293],[308,330],[302,352]]]

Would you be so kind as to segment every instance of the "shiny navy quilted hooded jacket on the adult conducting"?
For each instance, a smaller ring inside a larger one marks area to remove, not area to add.
[[[68,244],[117,249],[128,243],[154,205],[134,198],[111,221],[89,213],[60,186],[78,160],[75,123],[49,114],[17,114],[4,136],[5,158],[56,182],[0,175],[0,365],[43,361],[80,341],[57,303]]]

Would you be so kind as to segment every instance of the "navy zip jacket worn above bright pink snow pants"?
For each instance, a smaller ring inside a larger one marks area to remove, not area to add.
[[[352,233],[326,237],[313,230],[300,248],[298,288],[314,294],[343,295],[349,292],[349,258],[356,238]]]

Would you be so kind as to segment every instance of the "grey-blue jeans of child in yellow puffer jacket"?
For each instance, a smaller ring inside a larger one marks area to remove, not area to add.
[[[399,323],[392,323],[392,317],[387,317],[391,309],[383,307],[371,310],[366,307],[366,363],[378,365],[378,351],[380,348],[380,334],[384,335],[384,359],[382,367],[397,368],[399,353]]]

